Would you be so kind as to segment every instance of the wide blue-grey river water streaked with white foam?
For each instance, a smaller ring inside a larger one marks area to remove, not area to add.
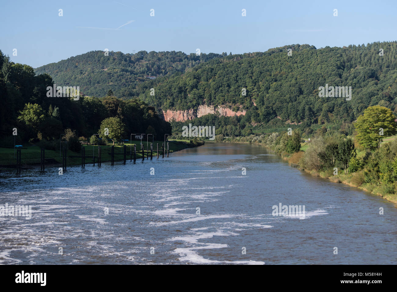
[[[70,166],[63,175],[58,168],[2,173],[0,205],[6,203],[31,205],[32,216],[0,217],[3,264],[397,259],[392,203],[311,177],[258,145],[207,143],[136,164]],[[304,206],[304,218],[273,216],[280,203]]]

